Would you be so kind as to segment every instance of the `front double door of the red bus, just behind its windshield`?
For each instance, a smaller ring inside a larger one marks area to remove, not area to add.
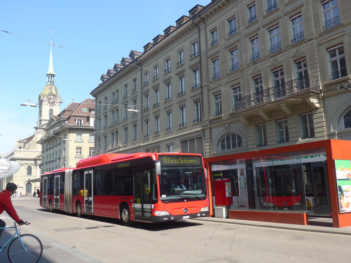
[[[134,173],[134,218],[151,222],[150,169],[137,169]]]

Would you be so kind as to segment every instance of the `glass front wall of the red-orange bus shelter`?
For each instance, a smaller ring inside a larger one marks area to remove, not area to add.
[[[325,160],[325,151],[314,149],[221,161],[212,163],[212,177],[213,180],[232,179],[233,205],[230,209],[295,210],[329,215]],[[216,195],[214,189],[213,194]],[[324,209],[318,209],[319,203]]]

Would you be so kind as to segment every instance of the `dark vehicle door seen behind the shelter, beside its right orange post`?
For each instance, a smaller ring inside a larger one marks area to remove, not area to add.
[[[317,215],[330,215],[330,194],[325,162],[311,163],[314,206]]]

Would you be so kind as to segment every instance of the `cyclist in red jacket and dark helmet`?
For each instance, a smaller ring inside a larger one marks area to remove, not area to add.
[[[23,220],[19,219],[16,210],[13,208],[11,195],[16,193],[17,186],[14,183],[8,183],[6,186],[6,190],[0,193],[0,214],[6,211],[6,213],[12,217],[14,221],[16,221],[20,225],[29,225],[29,223],[24,222]],[[6,227],[6,224],[3,220],[0,219],[0,227]],[[4,229],[0,229],[0,237]]]

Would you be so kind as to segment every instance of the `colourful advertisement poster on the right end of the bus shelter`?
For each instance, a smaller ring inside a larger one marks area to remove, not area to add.
[[[351,160],[334,160],[340,213],[351,211]]]

